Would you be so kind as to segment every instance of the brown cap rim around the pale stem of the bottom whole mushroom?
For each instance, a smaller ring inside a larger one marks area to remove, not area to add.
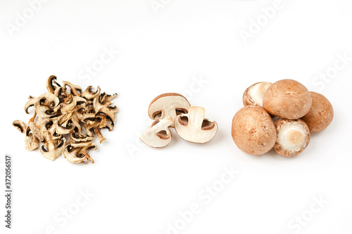
[[[301,150],[292,152],[290,150],[285,149],[280,143],[275,143],[274,150],[279,155],[284,157],[293,157],[299,155],[301,152],[303,152],[303,150],[306,149],[310,142],[310,131],[308,125],[302,119],[277,119],[277,121],[275,122],[277,134],[279,134],[279,131],[282,129],[282,127],[287,125],[287,123],[289,122],[297,122],[298,124],[301,124],[303,126],[303,129],[307,132],[307,135],[305,136],[305,138],[303,138],[306,141],[306,146],[301,148]]]

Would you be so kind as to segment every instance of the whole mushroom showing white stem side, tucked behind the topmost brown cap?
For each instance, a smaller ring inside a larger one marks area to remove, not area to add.
[[[263,106],[264,93],[272,85],[270,82],[258,82],[249,86],[243,94],[243,104]]]

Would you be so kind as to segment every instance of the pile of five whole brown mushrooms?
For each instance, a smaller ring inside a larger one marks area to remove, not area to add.
[[[250,155],[272,148],[285,157],[298,155],[310,142],[310,134],[326,129],[334,117],[325,96],[293,79],[253,84],[244,92],[243,103],[232,120],[232,138]]]

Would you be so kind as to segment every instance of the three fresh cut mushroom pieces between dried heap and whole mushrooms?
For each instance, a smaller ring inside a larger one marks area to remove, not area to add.
[[[215,121],[205,119],[204,108],[191,106],[184,96],[178,93],[163,93],[151,101],[149,117],[155,119],[140,136],[140,139],[153,148],[161,148],[171,142],[170,127],[178,135],[193,143],[206,143],[218,131]]]

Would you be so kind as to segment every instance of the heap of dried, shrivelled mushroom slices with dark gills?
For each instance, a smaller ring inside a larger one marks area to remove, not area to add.
[[[36,150],[42,145],[40,152],[49,160],[56,160],[63,155],[73,163],[94,162],[88,150],[96,150],[93,142],[94,134],[100,143],[105,140],[101,129],[111,131],[118,108],[111,103],[117,94],[101,93],[99,86],[93,91],[88,86],[84,91],[75,84],[56,82],[51,76],[46,81],[47,92],[34,98],[29,97],[25,104],[25,112],[34,107],[34,115],[28,126],[15,120],[15,126],[25,134],[25,149]]]

